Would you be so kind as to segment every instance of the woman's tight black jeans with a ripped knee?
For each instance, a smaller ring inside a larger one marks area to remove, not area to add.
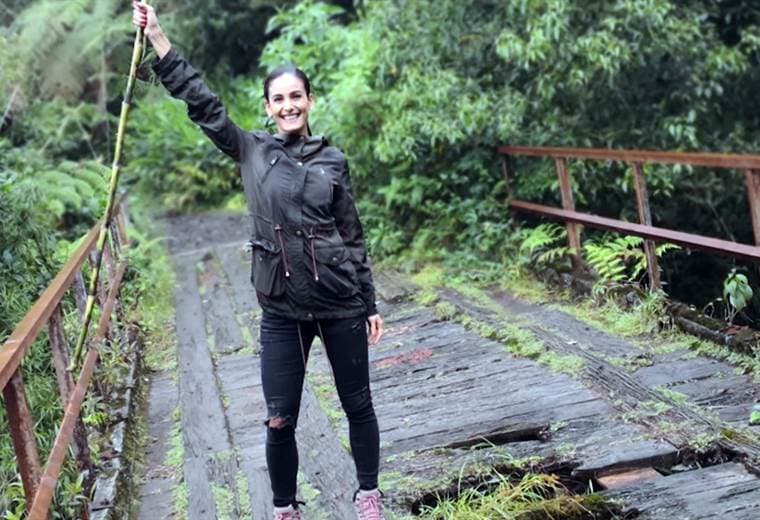
[[[365,316],[297,321],[264,313],[261,320],[261,381],[267,403],[266,459],[274,505],[295,503],[298,449],[295,431],[306,360],[322,337],[335,386],[349,424],[351,452],[361,489],[377,487],[380,435],[369,389]]]

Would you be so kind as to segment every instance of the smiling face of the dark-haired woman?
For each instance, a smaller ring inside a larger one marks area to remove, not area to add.
[[[309,110],[313,103],[314,96],[306,94],[303,81],[286,73],[269,84],[269,97],[264,100],[264,107],[278,132],[308,135]]]

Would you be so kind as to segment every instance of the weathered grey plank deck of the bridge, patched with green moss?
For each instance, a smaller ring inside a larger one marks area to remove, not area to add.
[[[185,217],[169,221],[167,234],[179,366],[152,380],[139,518],[177,518],[177,509],[193,520],[271,518],[247,222]],[[732,462],[760,454],[758,432],[742,426],[760,388],[731,366],[683,348],[647,349],[504,293],[473,302],[442,291],[456,311],[442,316],[414,303],[403,281],[383,273],[377,281],[388,330],[371,351],[371,375],[389,516],[463,483],[487,484],[494,468],[534,467],[576,490],[609,486],[640,518],[760,517],[760,481]],[[512,336],[500,333],[507,325]],[[514,328],[573,374],[552,370],[547,356],[542,364],[508,352]],[[307,519],[353,518],[347,438],[317,347],[298,431]]]

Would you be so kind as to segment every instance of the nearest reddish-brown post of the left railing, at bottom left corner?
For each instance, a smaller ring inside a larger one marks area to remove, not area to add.
[[[20,367],[3,388],[3,398],[8,412],[8,429],[11,431],[13,449],[24,484],[26,503],[31,504],[40,484],[42,470],[37,440],[34,437],[34,421],[26,400]]]

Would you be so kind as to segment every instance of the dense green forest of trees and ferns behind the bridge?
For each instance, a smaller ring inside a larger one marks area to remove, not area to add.
[[[310,75],[311,126],[349,157],[371,255],[403,269],[436,263],[493,282],[534,263],[525,244],[535,232],[505,207],[498,145],[760,150],[753,0],[159,0],[156,8],[244,128],[264,125],[267,70],[293,62]],[[128,0],[0,1],[0,342],[103,209],[130,10]],[[157,213],[241,208],[235,165],[147,65],[140,77],[124,161],[131,198]],[[552,164],[515,166],[520,198],[558,205]],[[580,210],[636,219],[622,165],[573,162],[571,173]],[[648,167],[647,176],[655,225],[752,243],[741,172]],[[561,245],[560,235],[538,240],[552,241]],[[757,287],[751,266],[730,259],[675,250],[661,267],[665,291],[699,308],[716,307],[732,269]],[[640,276],[631,266],[624,275]],[[758,293],[740,322],[760,321]],[[40,387],[32,403],[40,429],[52,431],[61,411],[42,389],[54,384],[42,377],[52,370],[45,352],[33,350],[24,370]],[[44,452],[50,436],[40,435]],[[11,518],[23,497],[6,444],[0,511]],[[59,502],[74,500],[76,480]]]

